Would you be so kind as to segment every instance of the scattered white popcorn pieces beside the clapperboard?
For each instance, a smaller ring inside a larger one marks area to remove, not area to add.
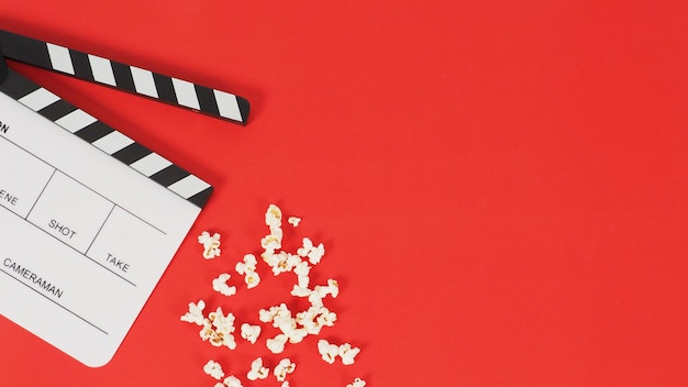
[[[298,217],[289,217],[287,222],[292,226],[298,226],[301,219]],[[293,272],[296,275],[296,284],[291,288],[292,297],[308,299],[310,307],[307,310],[297,311],[296,314],[289,310],[287,303],[282,302],[268,309],[258,310],[258,318],[264,324],[271,324],[279,332],[265,341],[266,347],[273,354],[280,354],[285,351],[287,343],[298,344],[302,342],[309,334],[318,335],[323,327],[333,327],[337,320],[337,314],[324,306],[328,296],[336,298],[340,294],[340,286],[335,279],[328,279],[326,285],[310,286],[310,273],[312,265],[318,265],[324,256],[325,250],[322,243],[315,245],[309,237],[302,239],[302,245],[297,248],[296,253],[282,250],[282,239],[285,231],[282,230],[282,212],[279,207],[270,204],[265,213],[265,224],[269,228],[269,234],[260,240],[260,246],[264,251],[260,253],[262,261],[267,264],[275,276],[287,272]],[[204,231],[198,236],[198,242],[203,245],[203,257],[207,259],[220,256],[220,234],[211,235]],[[256,254],[257,255],[257,254]],[[247,289],[256,287],[260,283],[258,275],[258,259],[254,254],[244,255],[243,259],[234,266],[235,272],[244,277]],[[229,280],[232,276],[228,273],[220,274],[212,280],[213,290],[224,295],[233,296],[236,294],[236,286],[230,286]],[[215,311],[203,316],[206,302],[203,300],[198,303],[190,302],[189,311],[180,317],[181,321],[200,325],[199,335],[203,341],[209,341],[214,346],[226,346],[230,350],[236,347],[234,339],[235,317],[233,313],[224,314],[222,307],[218,307]],[[243,323],[241,325],[241,338],[252,344],[257,342],[263,327],[260,324],[252,325]],[[360,349],[353,347],[349,343],[335,345],[326,340],[318,341],[318,351],[323,361],[334,364],[336,357],[341,357],[343,365],[352,365]],[[289,387],[287,376],[296,369],[296,364],[289,358],[282,358],[273,369],[277,382],[281,383],[281,387]],[[220,364],[209,361],[203,371],[220,380],[224,377],[224,372]],[[270,371],[264,366],[263,358],[257,357],[251,364],[251,371],[246,374],[248,380],[265,379]],[[347,387],[365,387],[366,382],[356,378]],[[214,387],[242,387],[242,382],[235,376],[226,377],[222,383],[217,383]]]

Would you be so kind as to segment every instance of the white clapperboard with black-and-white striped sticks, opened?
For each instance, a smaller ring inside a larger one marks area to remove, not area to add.
[[[0,31],[0,314],[107,364],[212,187],[5,58],[245,124],[233,93]]]

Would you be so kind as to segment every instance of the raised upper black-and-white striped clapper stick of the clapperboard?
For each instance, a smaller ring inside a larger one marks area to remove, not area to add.
[[[246,124],[245,98],[187,80],[0,30],[5,58]],[[0,76],[2,69],[0,68]]]

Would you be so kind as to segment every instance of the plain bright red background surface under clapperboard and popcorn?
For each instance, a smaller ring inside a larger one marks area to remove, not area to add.
[[[293,387],[685,386],[687,11],[3,0],[2,29],[236,92],[253,110],[241,128],[14,66],[217,190],[109,365],[87,368],[0,319],[1,384],[212,386],[209,358],[245,380],[262,345],[218,350],[178,318],[199,298],[254,318],[288,289],[267,272],[234,299],[210,288],[259,250],[276,202],[303,218],[295,243],[325,244],[314,280],[341,281],[323,336],[363,349],[345,367],[319,358],[317,338],[288,347]],[[223,234],[221,258],[200,256],[203,230]]]

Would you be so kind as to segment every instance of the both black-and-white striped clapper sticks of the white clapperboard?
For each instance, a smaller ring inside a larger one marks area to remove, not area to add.
[[[236,95],[0,30],[0,92],[93,144],[198,207],[212,192],[189,174],[7,66],[11,59],[245,125],[249,104]]]

